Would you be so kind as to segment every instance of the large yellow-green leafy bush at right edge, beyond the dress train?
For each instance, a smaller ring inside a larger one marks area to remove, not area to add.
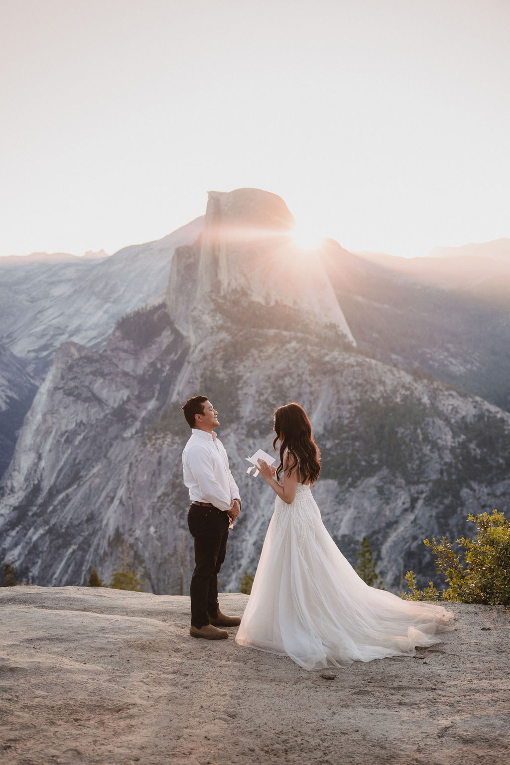
[[[476,539],[457,539],[464,548],[464,558],[453,551],[453,545],[443,536],[441,542],[424,539],[424,545],[436,555],[437,573],[443,574],[450,585],[440,593],[430,581],[425,590],[418,590],[413,571],[408,571],[405,581],[411,592],[402,594],[409,601],[456,601],[510,605],[510,522],[498,510],[469,514],[468,520],[476,523]]]

